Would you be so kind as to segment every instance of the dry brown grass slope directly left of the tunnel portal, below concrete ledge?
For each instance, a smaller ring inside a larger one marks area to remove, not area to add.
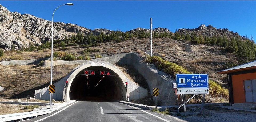
[[[0,92],[0,96],[8,98],[18,93],[29,91],[38,86],[50,83],[50,68],[37,67],[31,68],[34,65],[24,66],[0,66],[2,74],[0,74],[0,84],[5,89]],[[53,81],[60,79],[67,75],[75,65],[57,65],[53,68]],[[32,92],[32,93],[31,93]],[[33,90],[25,92],[29,96],[34,97]],[[21,96],[24,96],[21,95]],[[16,96],[19,97],[19,96]]]

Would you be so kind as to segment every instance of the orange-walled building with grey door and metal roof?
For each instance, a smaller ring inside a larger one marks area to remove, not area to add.
[[[256,60],[218,73],[227,74],[230,105],[256,103]]]

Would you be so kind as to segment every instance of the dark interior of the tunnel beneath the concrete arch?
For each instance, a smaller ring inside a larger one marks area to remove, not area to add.
[[[110,71],[110,75],[84,74],[84,71]],[[70,84],[69,84],[70,85]],[[78,73],[70,85],[70,100],[77,100],[85,97],[97,97],[103,99],[122,100],[125,86],[121,78],[114,71],[102,67],[91,66]],[[125,99],[125,98],[124,98]]]

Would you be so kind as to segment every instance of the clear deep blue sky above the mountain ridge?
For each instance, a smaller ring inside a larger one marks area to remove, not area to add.
[[[228,28],[241,36],[256,39],[256,1],[0,1],[9,11],[31,14],[54,22],[86,28],[129,31],[152,26],[197,28],[201,24]]]

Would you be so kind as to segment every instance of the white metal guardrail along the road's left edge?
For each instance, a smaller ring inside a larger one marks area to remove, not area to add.
[[[13,114],[0,115],[0,122],[12,121],[12,120],[22,121],[24,118],[44,115],[47,113],[52,113],[55,110],[57,110],[57,108],[40,110],[40,111],[30,111],[30,112],[24,112],[24,113],[13,113]]]

